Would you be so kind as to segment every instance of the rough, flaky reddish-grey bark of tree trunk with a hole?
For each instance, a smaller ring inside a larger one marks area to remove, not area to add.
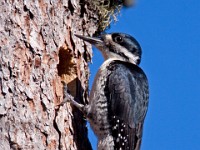
[[[86,122],[63,85],[87,102],[97,16],[83,0],[1,0],[0,149],[90,150]]]

